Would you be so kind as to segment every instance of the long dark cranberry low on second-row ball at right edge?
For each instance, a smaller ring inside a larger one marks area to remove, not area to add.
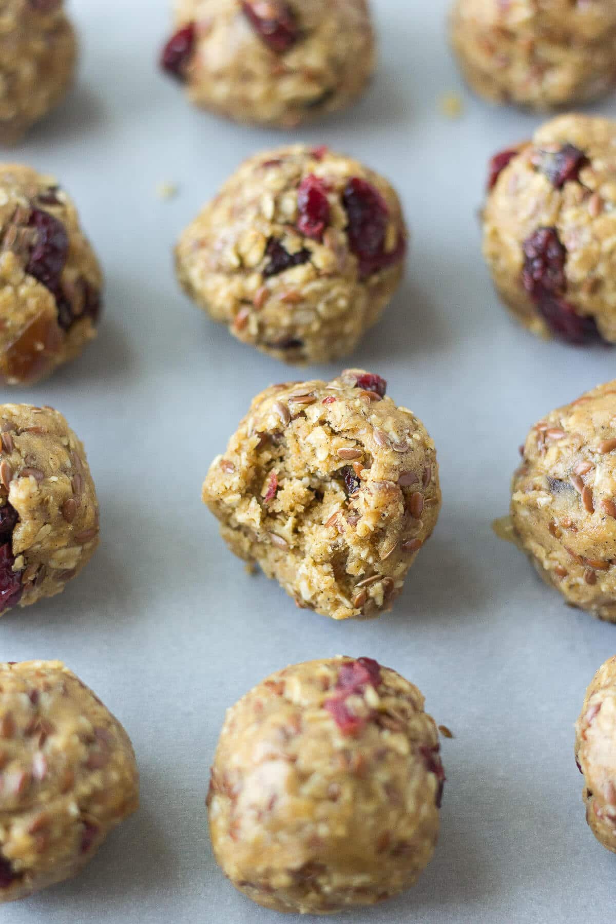
[[[582,345],[601,339],[595,319],[579,315],[562,295],[567,287],[564,264],[567,251],[554,227],[539,227],[524,245],[522,284],[537,303],[553,334],[567,343]]]

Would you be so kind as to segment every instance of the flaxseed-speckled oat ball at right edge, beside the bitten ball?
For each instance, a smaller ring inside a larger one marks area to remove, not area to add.
[[[535,424],[512,491],[513,538],[539,575],[616,622],[616,381]]]

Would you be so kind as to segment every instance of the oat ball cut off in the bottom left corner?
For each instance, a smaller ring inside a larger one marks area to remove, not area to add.
[[[122,725],[59,661],[0,663],[0,904],[74,876],[139,804]]]

